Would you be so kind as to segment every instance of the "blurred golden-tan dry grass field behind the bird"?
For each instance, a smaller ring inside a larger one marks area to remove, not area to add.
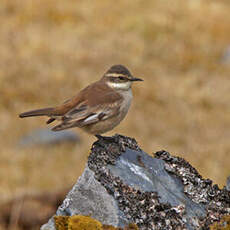
[[[64,102],[113,64],[145,81],[107,135],[181,156],[222,187],[230,174],[229,12],[228,0],[2,0],[0,204],[76,182],[95,137],[76,128],[52,142],[40,130],[45,118],[18,114]]]

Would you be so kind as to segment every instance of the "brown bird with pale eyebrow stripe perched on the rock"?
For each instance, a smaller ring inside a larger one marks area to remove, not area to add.
[[[47,116],[47,124],[60,121],[52,131],[78,127],[100,138],[126,116],[133,98],[132,84],[136,81],[143,79],[134,77],[123,65],[113,65],[100,80],[63,104],[24,112],[19,117]]]

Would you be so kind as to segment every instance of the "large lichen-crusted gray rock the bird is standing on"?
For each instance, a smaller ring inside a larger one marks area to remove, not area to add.
[[[84,173],[56,215],[89,215],[102,224],[139,229],[208,229],[230,214],[230,193],[166,151],[155,158],[134,139],[95,142]],[[42,230],[55,229],[53,218]]]

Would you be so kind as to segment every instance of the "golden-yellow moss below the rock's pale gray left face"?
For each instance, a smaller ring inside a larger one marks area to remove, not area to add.
[[[111,225],[102,225],[98,220],[89,216],[54,216],[57,230],[122,230]],[[129,224],[124,230],[138,230],[135,224]]]

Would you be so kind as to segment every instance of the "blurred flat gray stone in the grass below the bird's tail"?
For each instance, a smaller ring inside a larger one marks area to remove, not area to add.
[[[54,145],[63,142],[79,142],[80,138],[70,130],[53,132],[49,129],[37,129],[22,137],[18,145],[21,147],[29,147],[33,145]]]

